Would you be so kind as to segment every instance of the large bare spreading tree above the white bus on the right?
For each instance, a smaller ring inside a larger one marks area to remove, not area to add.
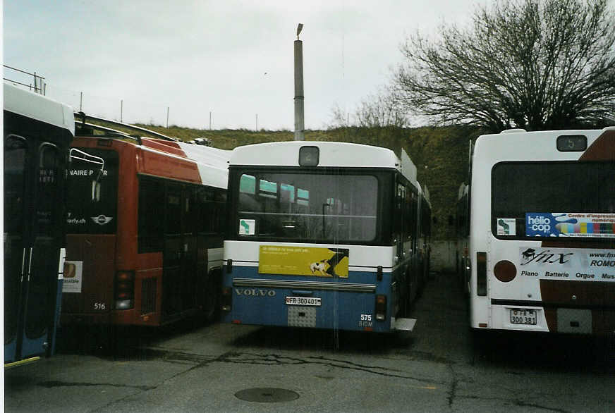
[[[408,109],[494,132],[615,123],[607,0],[501,0],[465,29],[410,36],[394,84]]]

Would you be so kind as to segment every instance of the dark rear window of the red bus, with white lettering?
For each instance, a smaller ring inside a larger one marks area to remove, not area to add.
[[[115,233],[118,154],[109,149],[75,149],[68,167],[66,233]]]

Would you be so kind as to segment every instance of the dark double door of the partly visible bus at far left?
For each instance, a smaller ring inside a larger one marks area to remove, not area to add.
[[[63,152],[4,140],[4,361],[51,350],[62,247]]]

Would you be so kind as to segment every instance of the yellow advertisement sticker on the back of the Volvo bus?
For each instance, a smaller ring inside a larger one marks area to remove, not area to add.
[[[348,248],[261,245],[258,272],[348,278]]]

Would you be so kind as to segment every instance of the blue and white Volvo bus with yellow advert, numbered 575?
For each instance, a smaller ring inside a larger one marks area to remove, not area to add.
[[[429,222],[430,206],[405,152],[398,159],[339,142],[238,147],[228,194],[224,321],[413,328],[408,311],[429,257],[419,213]]]

